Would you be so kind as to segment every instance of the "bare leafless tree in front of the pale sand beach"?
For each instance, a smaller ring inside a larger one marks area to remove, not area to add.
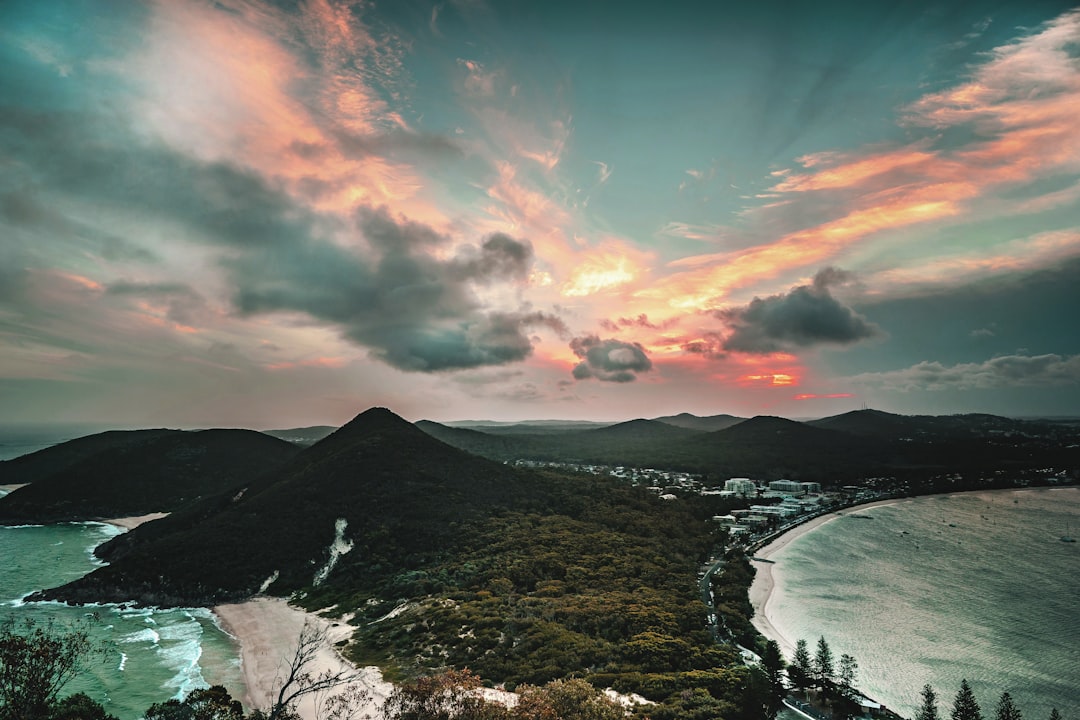
[[[278,695],[269,709],[266,710],[266,720],[285,720],[294,715],[297,703],[301,698],[312,696],[316,701],[322,698],[323,705],[336,705],[333,708],[338,717],[348,717],[349,708],[340,707],[340,702],[327,694],[334,690],[345,690],[346,685],[356,682],[360,673],[355,669],[323,670],[318,675],[313,673],[314,664],[319,651],[327,644],[326,628],[310,621],[305,621],[300,637],[296,641],[296,650],[285,667],[284,676],[279,676],[274,680]],[[363,691],[350,693],[354,697],[350,704],[359,705],[366,699]]]

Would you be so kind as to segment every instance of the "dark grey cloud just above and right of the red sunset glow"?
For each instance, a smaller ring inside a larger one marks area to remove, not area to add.
[[[880,335],[876,325],[829,293],[829,287],[850,280],[842,270],[825,268],[811,285],[717,312],[731,327],[724,350],[773,353],[818,344],[851,344]]]

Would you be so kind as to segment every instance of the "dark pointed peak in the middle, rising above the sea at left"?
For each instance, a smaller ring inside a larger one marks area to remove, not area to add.
[[[207,604],[288,594],[332,557],[327,583],[378,584],[447,552],[459,524],[540,506],[549,494],[534,476],[374,408],[228,497],[106,544],[109,566],[44,597]],[[332,553],[335,533],[347,534],[350,552]]]

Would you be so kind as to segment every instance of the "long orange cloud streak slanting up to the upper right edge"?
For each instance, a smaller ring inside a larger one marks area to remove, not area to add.
[[[962,148],[930,150],[919,140],[885,151],[822,152],[800,159],[812,172],[774,172],[773,192],[806,203],[831,193],[831,202],[840,202],[838,217],[766,245],[683,258],[638,295],[674,309],[715,309],[740,289],[835,261],[880,233],[962,218],[1002,186],[1080,172],[1080,59],[1069,50],[1078,42],[1080,12],[1071,12],[998,49],[970,82],[907,108],[908,125],[973,125],[980,139]],[[772,209],[782,218],[785,208],[801,205]]]

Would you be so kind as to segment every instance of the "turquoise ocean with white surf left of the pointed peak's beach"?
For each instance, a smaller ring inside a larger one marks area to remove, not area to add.
[[[23,601],[93,570],[99,565],[93,548],[118,532],[97,522],[0,526],[0,619],[86,629],[102,653],[60,694],[85,692],[120,720],[137,720],[153,703],[210,684],[242,696],[239,649],[208,610]]]

